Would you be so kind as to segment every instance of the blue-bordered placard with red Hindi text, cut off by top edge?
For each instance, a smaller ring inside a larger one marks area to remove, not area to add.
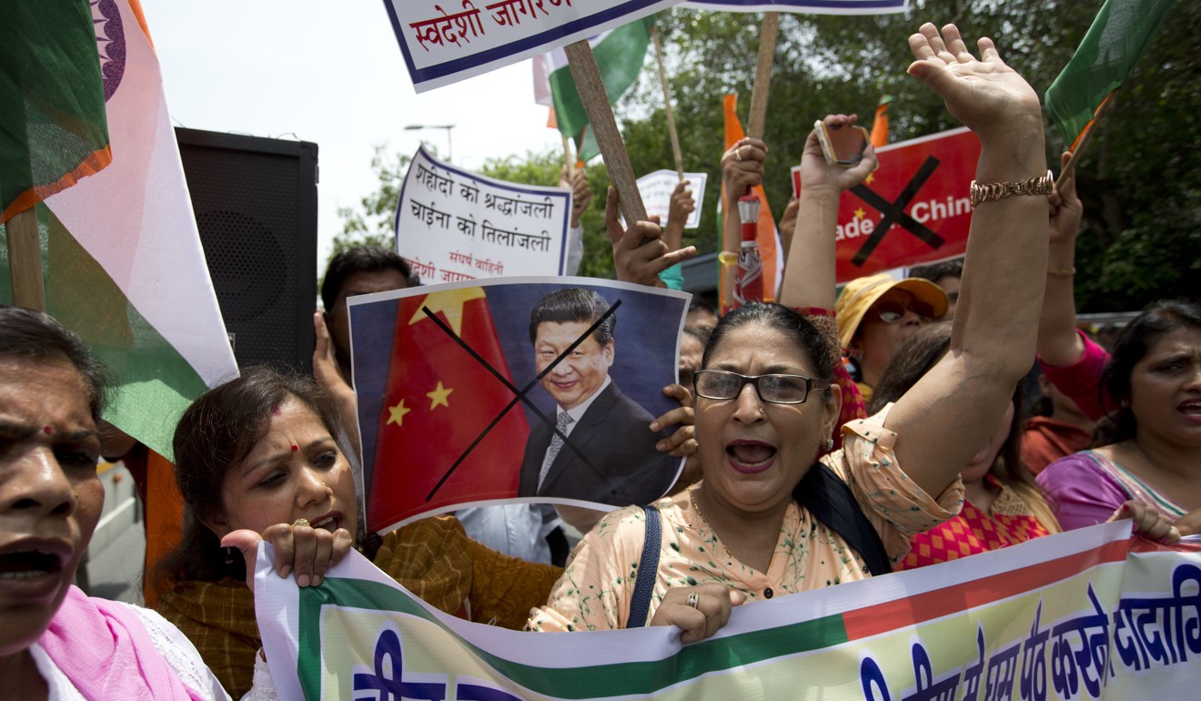
[[[479,76],[653,14],[680,0],[386,0],[418,93]],[[478,6],[477,6],[478,4]]]

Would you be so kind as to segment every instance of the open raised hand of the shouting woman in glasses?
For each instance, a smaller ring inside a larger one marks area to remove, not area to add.
[[[981,141],[1021,137],[1032,126],[1041,132],[1038,94],[1005,65],[991,38],[980,37],[976,46],[980,58],[968,51],[954,24],[944,26],[939,35],[927,22],[909,37],[916,59],[909,65],[909,75],[942,95],[948,112]]]

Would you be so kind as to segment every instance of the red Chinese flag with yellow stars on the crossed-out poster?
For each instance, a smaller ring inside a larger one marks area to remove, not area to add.
[[[530,434],[516,404],[480,438],[514,399],[483,364],[512,382],[483,289],[406,297],[398,304],[376,468],[368,489],[368,527],[375,531],[441,506],[512,498]]]

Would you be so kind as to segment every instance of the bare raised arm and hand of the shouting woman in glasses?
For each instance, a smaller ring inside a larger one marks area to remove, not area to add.
[[[1038,94],[1005,65],[988,38],[975,58],[955,25],[924,24],[909,37],[909,73],[942,95],[980,138],[976,182],[1024,183],[1046,174]],[[927,493],[939,494],[987,444],[1014,386],[1034,361],[1046,275],[1047,198],[1010,195],[972,215],[963,287],[950,351],[909,390],[885,426],[897,459]]]

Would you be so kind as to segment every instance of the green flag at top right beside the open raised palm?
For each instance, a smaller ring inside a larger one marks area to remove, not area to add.
[[[1147,53],[1176,0],[1105,0],[1085,40],[1044,96],[1051,120],[1075,149],[1101,102]]]

